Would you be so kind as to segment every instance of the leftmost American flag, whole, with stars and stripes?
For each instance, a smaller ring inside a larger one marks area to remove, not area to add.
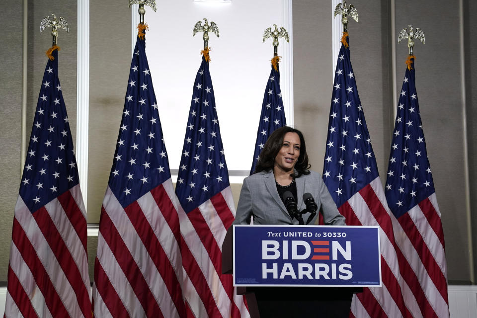
[[[86,213],[52,56],[15,206],[4,317],[91,317]]]

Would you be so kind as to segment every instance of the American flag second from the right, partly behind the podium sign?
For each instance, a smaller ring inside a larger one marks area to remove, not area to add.
[[[354,317],[409,317],[401,286],[397,246],[346,42],[339,51],[323,179],[347,225],[380,226],[382,288],[353,297]],[[346,47],[345,47],[346,43]]]

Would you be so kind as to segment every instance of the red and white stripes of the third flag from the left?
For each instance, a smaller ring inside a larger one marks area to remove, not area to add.
[[[232,276],[223,275],[221,268],[221,246],[235,219],[230,186],[188,214],[178,202],[176,206],[183,238],[184,296],[191,311],[196,317],[249,317]]]

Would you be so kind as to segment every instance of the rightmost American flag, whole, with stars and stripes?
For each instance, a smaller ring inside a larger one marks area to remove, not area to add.
[[[417,304],[414,317],[449,317],[447,264],[441,214],[417,102],[415,71],[408,59],[389,156],[386,199],[396,218],[393,227],[401,276]]]

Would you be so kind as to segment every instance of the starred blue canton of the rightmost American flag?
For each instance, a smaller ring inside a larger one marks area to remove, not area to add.
[[[414,72],[406,68],[402,82],[386,180],[386,199],[397,218],[435,192]]]

